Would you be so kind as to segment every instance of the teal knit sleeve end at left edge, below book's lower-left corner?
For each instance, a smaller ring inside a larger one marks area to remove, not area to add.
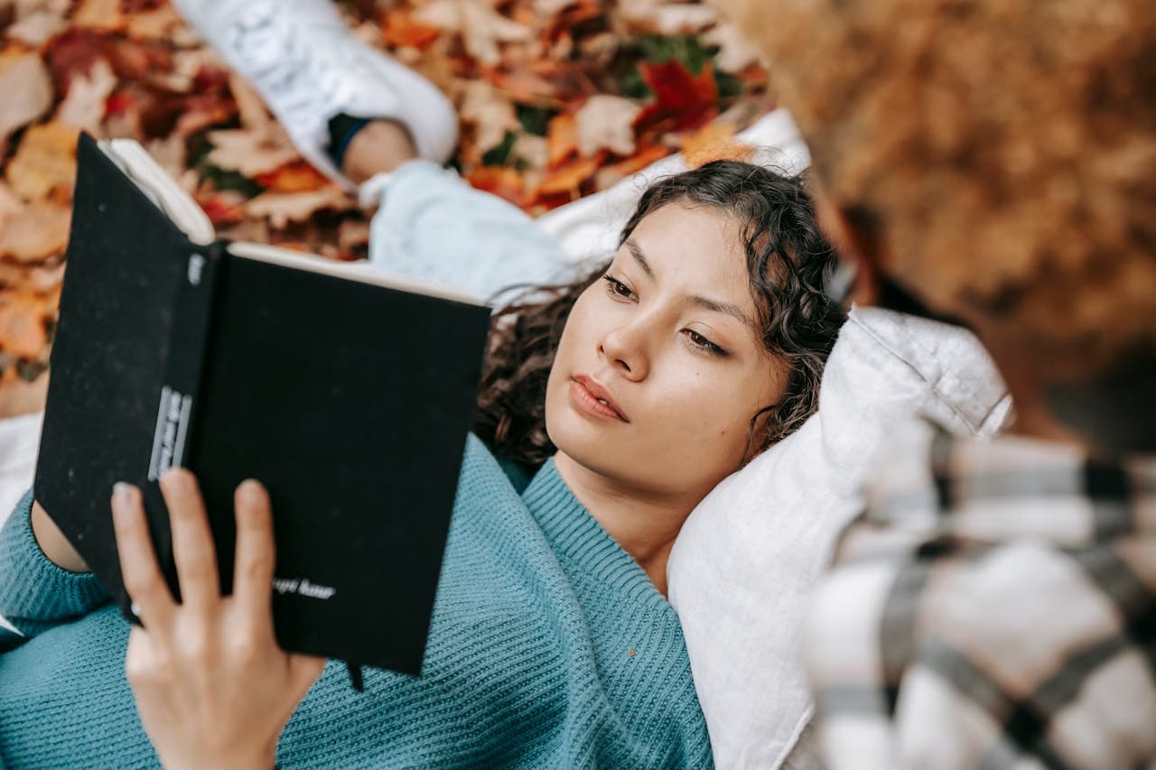
[[[29,490],[0,530],[0,615],[24,637],[75,620],[109,600],[92,572],[58,567],[32,534],[32,491]],[[0,646],[14,646],[0,638]]]

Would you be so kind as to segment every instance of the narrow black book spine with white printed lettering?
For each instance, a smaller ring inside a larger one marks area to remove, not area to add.
[[[208,353],[213,304],[224,262],[224,245],[193,251],[177,290],[169,358],[157,403],[148,480],[156,481],[190,457],[197,400]]]

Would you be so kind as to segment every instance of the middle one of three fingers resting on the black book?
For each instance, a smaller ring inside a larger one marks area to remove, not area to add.
[[[169,506],[180,604],[199,612],[210,609],[221,601],[221,583],[213,534],[197,479],[184,468],[172,468],[161,476],[161,491]]]

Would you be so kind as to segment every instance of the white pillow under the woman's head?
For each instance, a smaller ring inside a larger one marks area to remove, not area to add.
[[[896,423],[924,415],[990,436],[1010,397],[969,332],[851,313],[803,427],[690,514],[667,567],[719,768],[778,768],[810,719],[799,661],[808,594]]]

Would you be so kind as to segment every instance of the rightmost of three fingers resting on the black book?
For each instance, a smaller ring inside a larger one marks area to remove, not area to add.
[[[234,600],[251,619],[260,619],[260,622],[272,628],[273,567],[276,554],[269,496],[260,482],[250,479],[237,487],[234,506],[237,511]]]

